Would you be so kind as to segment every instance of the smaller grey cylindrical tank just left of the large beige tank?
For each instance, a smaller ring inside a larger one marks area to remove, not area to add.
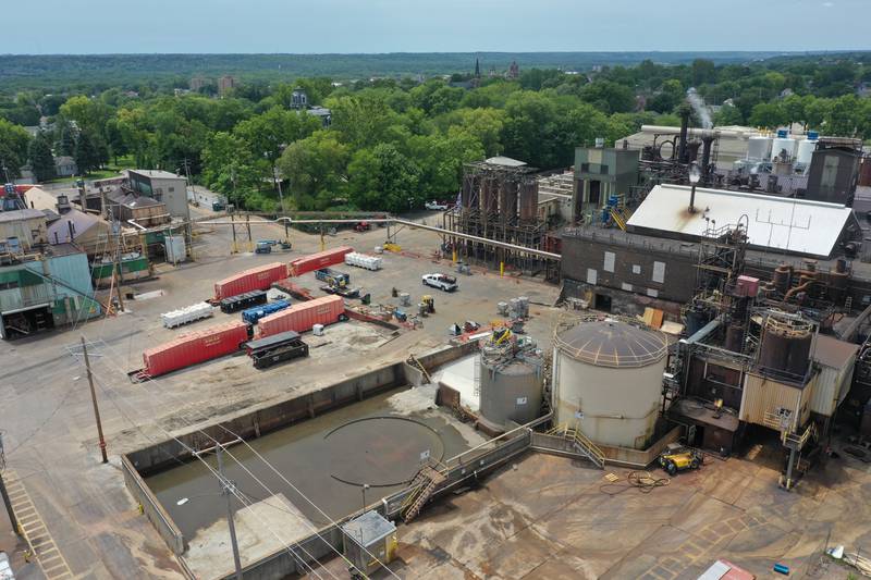
[[[481,416],[495,429],[508,421],[524,424],[541,410],[541,365],[519,358],[488,361],[481,357]]]

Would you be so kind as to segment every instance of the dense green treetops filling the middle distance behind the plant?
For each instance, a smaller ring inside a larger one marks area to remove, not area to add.
[[[642,61],[578,73],[522,69],[338,83],[250,81],[220,98],[159,85],[21,90],[0,99],[0,160],[10,176],[29,164],[51,178],[53,156],[79,171],[109,163],[170,171],[250,209],[278,208],[277,175],[297,209],[401,210],[456,195],[463,163],[494,155],[540,169],[572,164],[574,148],[610,144],[641,124],[676,125],[695,89],[717,125],[800,123],[824,134],[871,138],[868,53],[750,63]],[[291,108],[295,87],[318,116]],[[39,124],[35,137],[23,128]],[[698,120],[696,120],[698,122]]]

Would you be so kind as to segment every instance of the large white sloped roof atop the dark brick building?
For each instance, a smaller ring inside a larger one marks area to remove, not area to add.
[[[741,220],[751,246],[829,257],[851,214],[838,203],[701,187],[696,188],[697,212],[689,213],[689,194],[688,186],[658,185],[627,224],[701,237],[706,218],[716,222],[712,230]]]

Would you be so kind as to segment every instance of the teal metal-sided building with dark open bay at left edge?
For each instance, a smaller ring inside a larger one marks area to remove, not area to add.
[[[29,336],[102,313],[85,252],[73,244],[50,251],[0,266],[0,337]]]

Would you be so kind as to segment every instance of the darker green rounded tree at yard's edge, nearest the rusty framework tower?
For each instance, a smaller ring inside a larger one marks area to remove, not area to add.
[[[420,169],[391,144],[360,149],[348,165],[351,201],[364,210],[403,211],[420,207]]]

